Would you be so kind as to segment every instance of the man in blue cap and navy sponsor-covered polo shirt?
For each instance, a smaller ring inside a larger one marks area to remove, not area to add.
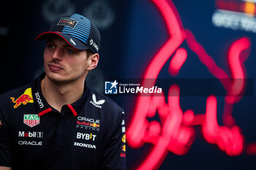
[[[96,26],[69,15],[36,39],[47,40],[45,73],[0,96],[0,170],[125,169],[124,112],[85,83]]]

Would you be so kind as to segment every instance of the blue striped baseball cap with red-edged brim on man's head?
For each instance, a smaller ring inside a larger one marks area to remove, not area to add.
[[[39,34],[36,40],[47,39],[52,34],[61,36],[76,50],[91,50],[94,53],[99,51],[99,30],[83,15],[73,14],[58,18],[50,26],[49,31]]]

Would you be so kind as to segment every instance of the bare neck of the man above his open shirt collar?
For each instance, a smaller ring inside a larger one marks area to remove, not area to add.
[[[48,104],[61,112],[61,107],[65,104],[72,104],[81,98],[84,90],[84,80],[59,85],[49,80],[45,75],[45,79],[41,81],[41,89],[42,95]]]

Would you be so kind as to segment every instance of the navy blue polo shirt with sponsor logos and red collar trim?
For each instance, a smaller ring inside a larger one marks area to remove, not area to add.
[[[85,88],[78,101],[59,112],[42,96],[44,77],[0,96],[0,166],[125,169],[123,109]]]

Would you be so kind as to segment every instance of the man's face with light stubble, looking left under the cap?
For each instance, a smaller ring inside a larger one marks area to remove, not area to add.
[[[83,80],[88,73],[86,50],[75,50],[59,36],[51,36],[44,53],[45,73],[53,82],[67,83]]]

